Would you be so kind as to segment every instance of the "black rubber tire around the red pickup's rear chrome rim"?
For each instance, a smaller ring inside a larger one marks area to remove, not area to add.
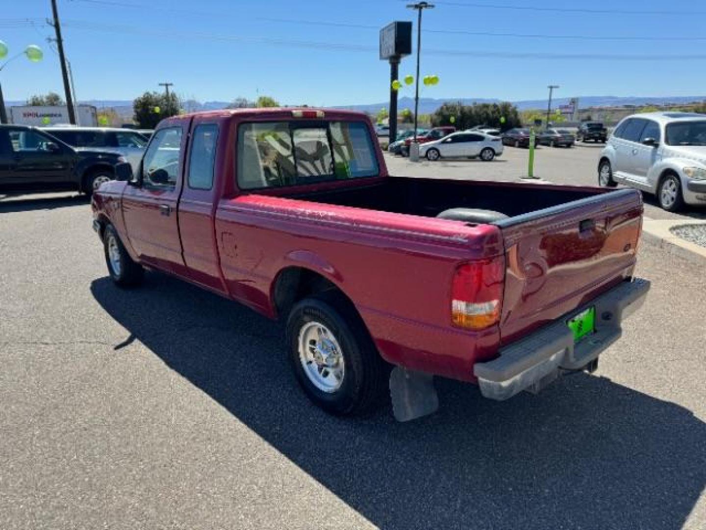
[[[312,361],[301,360],[299,334],[306,332],[307,325],[316,324],[323,324],[340,346],[344,372],[337,389],[320,389],[304,368]],[[390,366],[379,355],[351,303],[340,293],[322,293],[294,305],[287,319],[287,348],[301,388],[314,404],[329,413],[357,416],[378,408],[388,396]]]

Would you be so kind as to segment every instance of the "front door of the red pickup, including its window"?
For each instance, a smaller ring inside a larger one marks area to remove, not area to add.
[[[188,122],[172,122],[155,132],[135,185],[123,194],[128,239],[140,260],[164,271],[183,273],[177,204]]]

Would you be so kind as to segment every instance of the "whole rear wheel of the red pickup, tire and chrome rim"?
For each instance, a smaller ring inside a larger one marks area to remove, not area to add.
[[[354,416],[376,408],[385,396],[385,362],[342,295],[297,303],[287,319],[287,346],[297,381],[325,411]]]

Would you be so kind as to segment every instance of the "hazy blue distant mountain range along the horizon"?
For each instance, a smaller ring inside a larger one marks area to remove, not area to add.
[[[566,105],[570,98],[555,98],[552,100],[552,106],[556,105]],[[655,97],[623,97],[623,96],[613,96],[613,95],[593,95],[579,97],[579,107],[582,109],[588,107],[621,107],[626,105],[634,105],[636,107],[643,107],[645,105],[667,105],[667,104],[684,104],[690,102],[700,102],[706,100],[705,95],[691,95],[691,96],[655,96]],[[472,105],[473,103],[498,103],[503,100],[498,99],[487,99],[487,98],[419,98],[419,113],[420,114],[431,114],[438,107],[441,107],[445,102],[462,102],[464,105]],[[81,101],[81,103],[86,103],[88,105],[94,105],[95,107],[112,107],[118,114],[124,117],[131,117],[133,112],[132,101],[131,100],[88,100]],[[546,108],[546,100],[521,100],[513,101],[514,105],[517,105],[519,110],[527,109],[544,109]],[[6,102],[8,107],[16,105],[25,105],[23,101],[8,101]],[[227,101],[205,101],[198,102],[189,100],[184,102],[184,108],[189,111],[198,110],[217,110],[223,109],[229,105]],[[333,108],[337,109],[347,109],[347,110],[359,110],[362,112],[368,112],[370,114],[375,114],[378,110],[383,107],[388,107],[388,102],[379,103],[367,103],[361,105],[332,105]],[[400,110],[409,109],[414,110],[414,98],[409,98],[405,96],[400,98],[398,102],[398,107]]]

